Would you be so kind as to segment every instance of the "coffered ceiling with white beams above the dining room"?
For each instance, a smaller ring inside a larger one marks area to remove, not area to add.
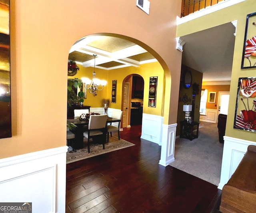
[[[111,36],[89,36],[78,40],[70,49],[68,59],[84,67],[112,70],[128,66],[156,62],[142,47],[122,38]]]

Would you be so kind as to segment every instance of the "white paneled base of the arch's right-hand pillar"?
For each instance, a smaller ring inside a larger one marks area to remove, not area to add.
[[[162,149],[160,165],[167,166],[174,161],[174,148],[176,138],[177,123],[162,125]]]

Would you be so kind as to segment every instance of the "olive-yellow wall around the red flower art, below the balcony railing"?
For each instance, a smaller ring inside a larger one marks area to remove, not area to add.
[[[230,100],[228,105],[228,117],[226,124],[226,136],[240,138],[248,141],[256,141],[255,133],[234,129],[234,114],[236,108],[237,85],[240,77],[255,76],[256,69],[250,68],[241,70],[242,52],[244,46],[244,32],[246,24],[246,15],[255,12],[256,1],[246,0],[239,4],[229,6],[228,8],[207,14],[196,20],[191,20],[177,26],[177,37],[188,35],[200,30],[205,30],[237,20],[236,40],[234,45],[234,57],[232,66],[232,77],[230,84]]]

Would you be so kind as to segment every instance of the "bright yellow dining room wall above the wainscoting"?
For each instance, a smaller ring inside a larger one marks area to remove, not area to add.
[[[68,76],[68,78],[78,78],[82,77],[92,79],[93,68],[85,68],[81,65],[78,65],[79,70],[75,76]],[[122,109],[122,84],[126,81],[124,79],[131,74],[139,74],[144,79],[144,99],[137,100],[144,102],[143,113],[161,115],[162,111],[162,99],[163,99],[163,86],[164,86],[164,70],[159,62],[153,62],[149,64],[142,64],[139,67],[126,67],[114,70],[102,70],[95,68],[96,77],[101,80],[107,80],[107,84],[102,91],[99,91],[97,96],[87,92],[87,99],[84,100],[84,105],[91,107],[102,107],[102,99],[109,99],[109,107],[114,109]],[[157,76],[158,77],[158,86],[156,94],[156,107],[148,107],[148,91],[149,91],[149,77]],[[111,103],[111,93],[112,93],[112,80],[117,80],[117,95],[116,103]],[[132,79],[130,79],[132,86]],[[132,87],[130,87],[132,90]],[[131,92],[130,92],[131,94]],[[131,98],[131,97],[130,97]],[[135,100],[133,100],[135,101]]]

